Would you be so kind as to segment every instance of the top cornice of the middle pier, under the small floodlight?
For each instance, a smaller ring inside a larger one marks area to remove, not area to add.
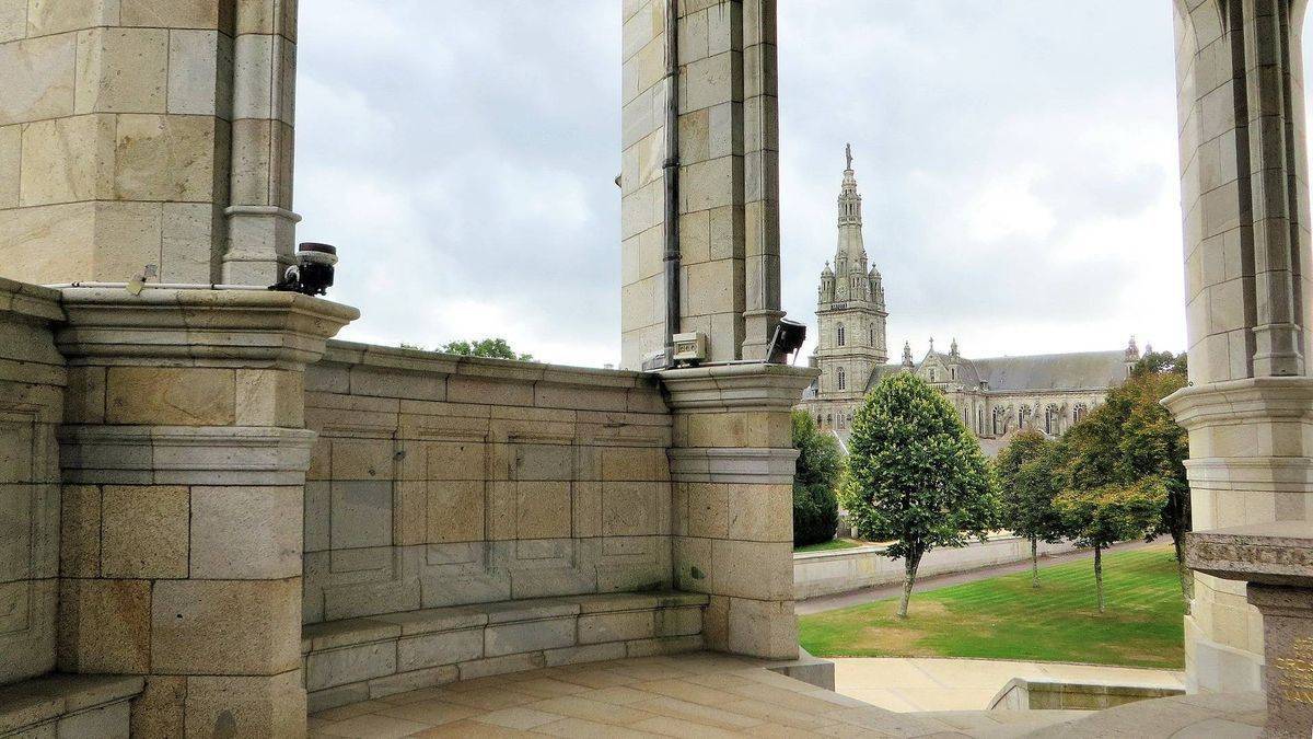
[[[821,375],[788,364],[704,364],[660,372],[667,402],[675,412],[789,410],[802,389]]]

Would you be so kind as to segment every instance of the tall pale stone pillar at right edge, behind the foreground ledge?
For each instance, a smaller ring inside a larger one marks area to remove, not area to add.
[[[1194,527],[1313,521],[1305,3],[1174,5],[1191,387],[1165,402],[1190,431]],[[1195,575],[1186,669],[1196,690],[1262,685],[1242,581]]]

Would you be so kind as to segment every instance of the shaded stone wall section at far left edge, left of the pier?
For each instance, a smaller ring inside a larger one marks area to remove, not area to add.
[[[55,665],[59,295],[0,279],[0,685]]]

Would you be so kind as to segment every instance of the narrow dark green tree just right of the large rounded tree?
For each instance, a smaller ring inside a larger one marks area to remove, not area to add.
[[[1031,586],[1040,586],[1040,542],[1062,539],[1062,518],[1053,509],[1061,492],[1058,444],[1039,431],[1022,431],[998,454],[1002,523],[1031,542]]]

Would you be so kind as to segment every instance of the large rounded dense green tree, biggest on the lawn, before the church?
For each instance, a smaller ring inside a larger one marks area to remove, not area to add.
[[[922,556],[985,540],[998,519],[998,487],[979,444],[944,396],[911,373],[889,376],[852,419],[844,506],[857,533],[892,540],[907,602]]]

